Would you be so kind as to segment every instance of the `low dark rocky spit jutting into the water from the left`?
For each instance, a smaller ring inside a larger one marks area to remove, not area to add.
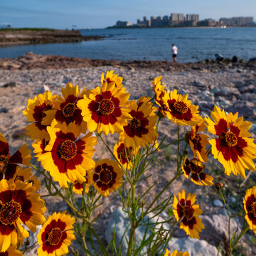
[[[100,40],[101,36],[82,36],[80,31],[68,30],[11,30],[0,31],[0,46],[40,43],[76,43]]]

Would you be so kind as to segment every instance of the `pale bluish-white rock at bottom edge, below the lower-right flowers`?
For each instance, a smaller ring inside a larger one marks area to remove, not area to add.
[[[168,247],[174,250],[188,252],[190,256],[216,256],[218,249],[206,240],[196,238],[171,238]],[[219,254],[220,256],[220,254]]]

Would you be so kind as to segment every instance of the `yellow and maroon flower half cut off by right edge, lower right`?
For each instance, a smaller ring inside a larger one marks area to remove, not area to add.
[[[245,220],[256,235],[256,186],[247,189],[242,203],[245,208]]]

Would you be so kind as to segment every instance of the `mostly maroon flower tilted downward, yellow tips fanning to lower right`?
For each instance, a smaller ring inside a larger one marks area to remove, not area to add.
[[[199,161],[198,159],[194,158],[191,160],[188,160],[188,156],[185,156],[182,170],[184,172],[184,176],[196,185],[206,185],[211,186],[213,185],[213,177],[205,174],[203,172],[205,166]]]

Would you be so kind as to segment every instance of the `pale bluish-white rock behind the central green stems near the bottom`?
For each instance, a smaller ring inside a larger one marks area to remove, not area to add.
[[[140,210],[138,210],[137,215],[140,215]],[[155,225],[154,223],[156,223],[156,221],[162,222],[164,221],[164,219],[161,217],[153,218],[153,216],[154,214],[149,214],[148,216],[144,217],[143,222],[145,223],[145,225],[151,226],[151,228],[154,228],[154,230],[158,232],[162,224],[156,225],[154,227]],[[105,232],[105,238],[107,239],[107,242],[110,243],[112,240],[113,232],[115,228],[115,236],[116,236],[115,241],[117,245],[119,245],[119,242],[122,240],[123,255],[127,255],[127,248],[128,248],[127,240],[129,239],[129,230],[130,230],[130,228],[127,229],[128,225],[129,225],[129,218],[127,213],[124,213],[122,208],[118,207],[113,211],[110,217],[110,221],[107,225],[107,230]],[[149,238],[149,235],[151,235],[151,230],[149,229],[146,230],[145,225],[140,226],[139,228],[136,229],[135,239],[137,241],[137,245],[139,245],[139,243],[142,242],[145,232],[146,232],[146,238]],[[164,224],[164,229],[169,230],[169,227],[167,224]],[[124,235],[126,230],[127,230],[127,233]],[[142,249],[141,252],[146,253],[146,247]]]

